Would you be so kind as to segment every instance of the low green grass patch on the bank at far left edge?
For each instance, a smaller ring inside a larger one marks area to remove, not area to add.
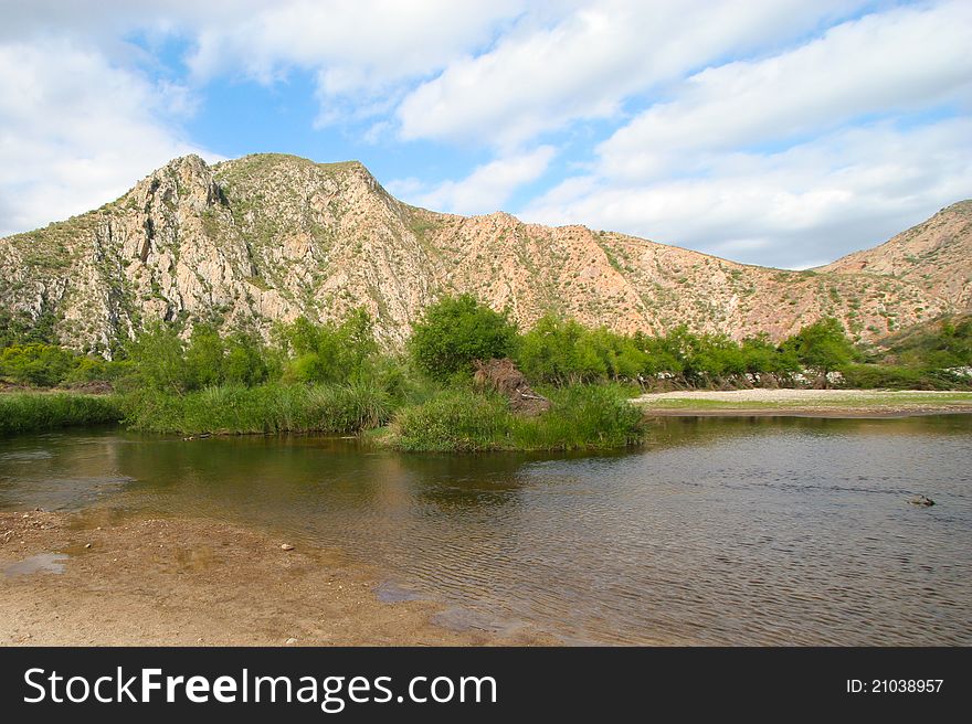
[[[117,395],[71,392],[18,392],[0,394],[0,435],[106,425],[122,419]]]

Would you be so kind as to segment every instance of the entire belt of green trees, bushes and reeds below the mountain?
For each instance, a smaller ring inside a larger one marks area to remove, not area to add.
[[[188,332],[188,333],[187,333]],[[858,349],[835,319],[781,344],[737,342],[679,327],[665,336],[619,334],[547,316],[520,333],[508,315],[475,298],[445,297],[425,310],[404,352],[383,351],[371,318],[299,318],[270,341],[157,322],[113,361],[59,347],[53,323],[0,318],[0,382],[47,388],[97,383],[114,396],[0,395],[0,432],[115,422],[198,433],[357,433],[405,450],[616,447],[643,435],[625,396],[655,388],[828,386],[968,388],[972,322],[945,320],[886,349]],[[524,416],[473,385],[477,360],[511,358],[550,409]],[[834,375],[833,373],[841,373]]]

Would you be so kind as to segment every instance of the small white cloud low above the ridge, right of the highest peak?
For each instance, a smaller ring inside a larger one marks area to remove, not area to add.
[[[539,179],[553,159],[551,146],[499,158],[477,167],[461,181],[443,181],[432,187],[415,179],[392,181],[389,191],[419,206],[457,214],[486,214],[497,211],[513,192]]]

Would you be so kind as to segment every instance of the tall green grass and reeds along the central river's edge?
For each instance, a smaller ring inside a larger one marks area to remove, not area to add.
[[[575,385],[550,393],[535,417],[507,401],[463,387],[422,391],[394,401],[373,385],[220,386],[128,398],[127,424],[154,433],[359,433],[399,450],[572,450],[624,447],[642,439],[641,412],[613,386]],[[381,429],[379,429],[381,428]]]

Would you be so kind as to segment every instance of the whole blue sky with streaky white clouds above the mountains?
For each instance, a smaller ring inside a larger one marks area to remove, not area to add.
[[[972,198],[972,0],[0,0],[0,235],[168,160],[806,268]]]

